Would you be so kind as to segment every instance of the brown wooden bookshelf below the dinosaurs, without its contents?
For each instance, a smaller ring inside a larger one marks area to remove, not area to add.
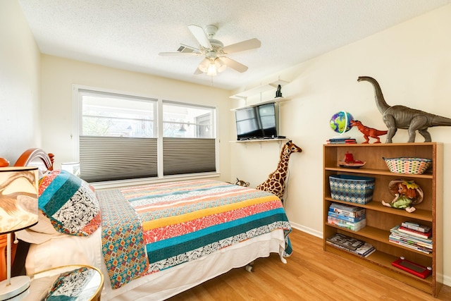
[[[346,152],[354,159],[366,161],[362,168],[342,168],[341,161]],[[392,173],[383,157],[402,156],[432,159],[432,167],[421,175]],[[375,178],[373,199],[368,204],[354,204],[332,199],[330,195],[329,176],[347,174]],[[385,207],[381,201],[390,202],[393,195],[388,190],[391,180],[414,180],[424,192],[423,202],[416,204],[416,211],[409,213],[403,209]],[[366,209],[366,227],[360,231],[351,231],[331,225],[327,222],[328,208],[331,203],[352,204]],[[433,231],[433,252],[426,254],[417,250],[397,245],[388,240],[390,228],[400,225],[402,221],[416,221],[431,226]],[[415,288],[424,290],[437,297],[443,285],[443,145],[436,142],[424,143],[388,143],[357,145],[323,146],[323,249],[342,257],[359,262],[364,266],[381,272]],[[371,243],[376,252],[369,257],[359,257],[345,250],[326,244],[326,238],[335,233],[342,233]],[[432,275],[426,279],[409,274],[392,266],[399,257],[412,262],[432,267]]]

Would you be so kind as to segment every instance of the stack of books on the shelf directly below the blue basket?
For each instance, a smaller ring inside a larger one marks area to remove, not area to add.
[[[365,209],[347,204],[330,204],[327,222],[331,225],[359,231],[366,226]]]

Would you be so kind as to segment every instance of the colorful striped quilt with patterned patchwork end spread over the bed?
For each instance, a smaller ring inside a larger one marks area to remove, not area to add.
[[[112,193],[116,195],[115,200],[104,202],[104,199],[111,198]],[[132,254],[125,255],[128,258],[142,259],[139,256],[141,240],[144,240],[148,261],[144,274],[195,260],[276,229],[285,231],[285,252],[287,255],[291,253],[288,240],[290,223],[280,199],[268,192],[216,180],[190,180],[123,188],[113,192],[99,191],[97,197],[101,203],[104,234],[110,233],[109,238],[103,241],[104,255],[109,258],[106,266],[111,271],[118,271],[118,274],[112,272],[109,275],[113,288],[143,274],[141,265],[134,275],[130,275],[130,267],[121,269],[121,263],[127,263],[122,258],[118,259],[121,255],[116,252],[115,246],[121,246],[121,250]],[[109,208],[104,210],[104,204]],[[116,211],[111,206],[123,208]],[[118,219],[114,219],[113,223],[106,221],[111,216],[124,215],[120,213],[124,207],[128,211],[125,216],[130,216],[134,211],[140,225],[119,225]],[[118,227],[121,227],[121,231],[124,228],[131,229],[129,232],[133,233],[142,230],[142,238],[138,233],[138,238],[130,240],[128,233],[125,233],[125,237],[120,238],[121,243],[115,242],[111,239],[111,233],[121,232]]]

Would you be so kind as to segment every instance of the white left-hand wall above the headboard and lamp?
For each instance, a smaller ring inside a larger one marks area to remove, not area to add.
[[[40,147],[40,54],[18,1],[0,1],[0,156]]]

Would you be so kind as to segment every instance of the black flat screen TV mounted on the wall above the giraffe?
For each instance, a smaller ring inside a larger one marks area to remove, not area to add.
[[[278,105],[261,104],[235,110],[237,140],[278,137]]]

